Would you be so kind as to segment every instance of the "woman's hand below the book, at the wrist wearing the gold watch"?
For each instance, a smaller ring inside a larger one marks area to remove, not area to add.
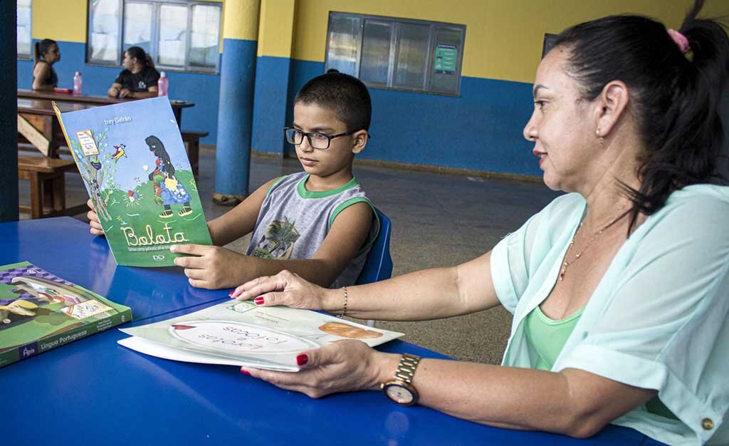
[[[321,398],[330,393],[378,390],[397,369],[399,355],[381,353],[364,342],[332,342],[296,357],[300,372],[272,372],[241,367],[241,373],[270,382],[288,391]]]

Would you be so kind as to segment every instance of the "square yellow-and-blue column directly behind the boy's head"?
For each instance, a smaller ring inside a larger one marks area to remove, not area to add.
[[[296,0],[261,0],[253,149],[284,156]]]

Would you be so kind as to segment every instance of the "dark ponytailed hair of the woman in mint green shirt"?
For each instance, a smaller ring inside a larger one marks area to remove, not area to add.
[[[696,0],[679,29],[689,42],[686,54],[662,23],[635,15],[580,23],[555,41],[569,51],[565,70],[580,82],[582,99],[592,101],[612,80],[631,92],[645,150],[639,190],[622,184],[633,201],[628,231],[673,191],[717,177],[723,144],[717,105],[729,73],[729,38],[716,20],[696,18],[701,7]]]

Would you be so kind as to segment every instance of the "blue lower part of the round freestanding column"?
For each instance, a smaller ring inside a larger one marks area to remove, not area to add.
[[[225,195],[248,195],[257,45],[223,39],[215,192]]]

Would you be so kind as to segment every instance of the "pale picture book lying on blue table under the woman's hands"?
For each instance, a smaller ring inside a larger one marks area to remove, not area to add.
[[[147,355],[202,364],[297,372],[296,356],[340,339],[375,346],[402,333],[363,326],[308,309],[227,301],[178,318],[120,328],[119,344]]]

